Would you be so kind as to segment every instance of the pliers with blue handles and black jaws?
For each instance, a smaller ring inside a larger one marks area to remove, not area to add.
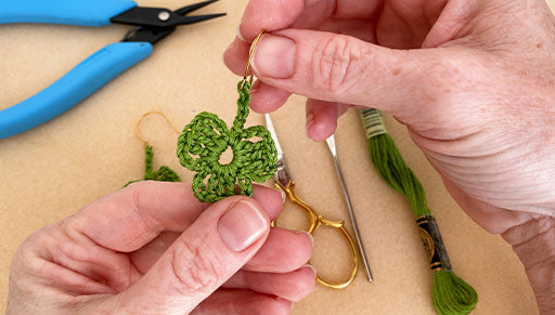
[[[185,16],[205,1],[171,11],[138,6],[130,0],[17,0],[0,2],[0,24],[42,23],[105,26],[134,25],[121,42],[111,43],[65,76],[20,104],[0,110],[0,139],[24,132],[63,114],[152,53],[153,44],[176,27],[224,15]]]

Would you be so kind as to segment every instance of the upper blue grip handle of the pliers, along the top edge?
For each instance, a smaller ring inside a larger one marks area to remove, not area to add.
[[[2,0],[0,24],[41,23],[103,26],[137,6],[131,0]]]

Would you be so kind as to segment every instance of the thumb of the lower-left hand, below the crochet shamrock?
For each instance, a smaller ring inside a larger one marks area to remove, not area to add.
[[[260,249],[269,231],[270,220],[254,199],[216,202],[124,292],[120,305],[141,314],[191,312]]]

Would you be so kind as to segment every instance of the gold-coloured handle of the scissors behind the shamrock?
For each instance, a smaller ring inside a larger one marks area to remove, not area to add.
[[[302,209],[307,213],[307,215],[309,218],[309,222],[310,222],[310,226],[307,231],[308,233],[310,233],[311,235],[315,235],[318,229],[320,228],[320,226],[325,226],[325,227],[337,229],[344,236],[344,238],[347,240],[347,244],[349,245],[349,249],[350,249],[351,255],[352,255],[352,270],[351,270],[349,277],[344,281],[333,283],[333,281],[322,278],[320,275],[317,274],[317,281],[324,287],[332,288],[332,289],[347,288],[352,283],[352,280],[354,279],[354,276],[357,275],[358,253],[357,253],[357,248],[354,247],[354,242],[352,241],[352,237],[349,235],[349,233],[347,232],[347,229],[344,226],[344,222],[330,220],[330,219],[326,219],[326,218],[318,214],[314,211],[314,209],[312,209],[312,207],[310,207],[307,202],[305,202],[302,199],[300,199],[297,196],[297,194],[295,193],[295,183],[293,181],[289,181],[287,183],[287,185],[285,185],[285,187],[280,185],[279,183],[275,183],[275,187],[283,191],[285,193],[285,195],[287,196],[287,199],[289,199],[289,201],[292,201],[295,206]],[[272,222],[272,226],[275,226],[276,220],[274,220]]]

